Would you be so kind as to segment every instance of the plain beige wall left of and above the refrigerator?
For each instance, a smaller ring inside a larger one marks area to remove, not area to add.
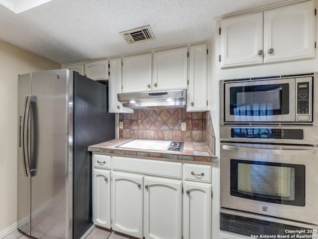
[[[16,223],[17,75],[59,68],[59,64],[0,41],[0,234]]]

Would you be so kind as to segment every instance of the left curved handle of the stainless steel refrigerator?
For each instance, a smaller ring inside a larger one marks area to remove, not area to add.
[[[30,111],[31,111],[31,102],[35,102],[35,96],[28,95],[26,96],[26,105],[24,112],[24,125],[23,125],[23,150],[24,152],[24,165],[25,172],[28,178],[31,177],[31,168],[30,168],[30,157],[29,157],[29,120],[30,120]]]

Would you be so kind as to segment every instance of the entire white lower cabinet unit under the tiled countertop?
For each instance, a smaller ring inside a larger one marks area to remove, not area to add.
[[[210,165],[109,157],[93,154],[95,225],[139,239],[211,239]]]

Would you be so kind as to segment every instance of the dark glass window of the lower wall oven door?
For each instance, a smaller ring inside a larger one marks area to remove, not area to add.
[[[231,195],[305,206],[305,165],[231,159]]]

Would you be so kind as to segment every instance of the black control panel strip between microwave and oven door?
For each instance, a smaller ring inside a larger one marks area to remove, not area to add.
[[[304,130],[294,128],[231,128],[231,137],[255,139],[304,139]]]

